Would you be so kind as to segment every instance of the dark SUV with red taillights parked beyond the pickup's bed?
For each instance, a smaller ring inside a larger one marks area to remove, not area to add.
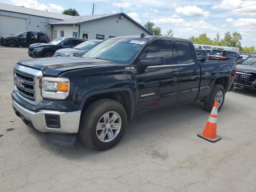
[[[229,61],[238,61],[242,57],[234,52],[234,51],[228,51],[228,50],[212,50],[209,53],[208,58],[210,60],[229,60]]]

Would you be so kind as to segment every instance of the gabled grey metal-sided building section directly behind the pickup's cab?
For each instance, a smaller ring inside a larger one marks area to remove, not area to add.
[[[127,35],[152,35],[144,26],[124,13],[88,16],[73,16],[51,23],[53,37],[78,37],[86,39],[108,39]]]

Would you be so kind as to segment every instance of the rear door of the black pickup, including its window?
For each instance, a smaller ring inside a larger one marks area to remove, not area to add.
[[[194,46],[186,40],[175,40],[176,61],[180,70],[177,104],[197,98],[200,84],[200,66],[195,60]]]

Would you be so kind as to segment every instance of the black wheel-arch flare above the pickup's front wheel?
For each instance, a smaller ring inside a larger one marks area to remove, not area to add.
[[[80,106],[79,106],[79,110],[82,110],[84,107],[84,104],[86,102],[86,100],[90,97],[90,96],[94,96],[97,94],[102,94],[102,93],[110,93],[110,92],[119,92],[119,91],[126,91],[129,94],[130,97],[130,114],[128,116],[130,116],[130,118],[132,119],[134,116],[134,108],[135,108],[135,102],[134,102],[134,93],[132,92],[131,88],[127,88],[127,87],[122,87],[122,88],[111,88],[111,89],[104,89],[104,90],[96,90],[96,91],[92,91],[87,93],[81,100],[80,102]]]

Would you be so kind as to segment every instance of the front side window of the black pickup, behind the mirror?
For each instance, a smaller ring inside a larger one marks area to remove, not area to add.
[[[173,53],[172,53],[172,44],[169,40],[156,40],[152,42],[143,56],[146,58],[147,56],[159,55],[164,56],[164,64],[172,65],[173,62]]]

